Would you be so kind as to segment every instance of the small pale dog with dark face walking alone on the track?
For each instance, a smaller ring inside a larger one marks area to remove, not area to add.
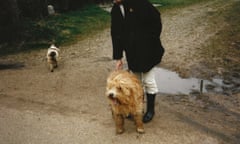
[[[60,49],[52,44],[47,51],[47,62],[49,64],[50,71],[53,72],[54,68],[58,67]]]

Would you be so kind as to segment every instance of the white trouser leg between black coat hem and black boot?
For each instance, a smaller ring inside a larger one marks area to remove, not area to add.
[[[146,73],[133,72],[142,82],[144,91],[148,94],[156,94],[158,92],[157,83],[154,75],[154,68]]]

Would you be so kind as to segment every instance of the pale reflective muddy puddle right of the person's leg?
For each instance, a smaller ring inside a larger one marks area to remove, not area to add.
[[[214,92],[231,94],[232,90],[240,91],[239,86],[222,79],[201,80],[197,78],[181,78],[176,72],[162,68],[155,69],[155,76],[159,93],[164,94],[199,94],[200,92]],[[202,81],[202,89],[201,89]]]

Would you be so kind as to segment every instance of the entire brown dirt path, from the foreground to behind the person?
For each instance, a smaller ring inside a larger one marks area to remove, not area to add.
[[[222,26],[209,13],[227,10],[235,0],[213,0],[162,13],[162,66],[183,76],[201,76],[198,50]],[[217,20],[224,24],[221,17]],[[61,48],[59,68],[50,73],[45,50],[0,58],[0,142],[3,144],[237,144],[240,94],[160,95],[156,116],[135,132],[115,135],[104,97],[113,68],[109,29]],[[180,67],[181,66],[181,67]],[[196,71],[199,71],[196,73]]]

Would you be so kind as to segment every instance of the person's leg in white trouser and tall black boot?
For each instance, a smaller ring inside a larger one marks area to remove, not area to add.
[[[147,111],[143,116],[143,122],[147,123],[152,120],[155,111],[155,97],[158,92],[158,87],[155,80],[154,69],[142,74],[143,85],[147,96]]]

